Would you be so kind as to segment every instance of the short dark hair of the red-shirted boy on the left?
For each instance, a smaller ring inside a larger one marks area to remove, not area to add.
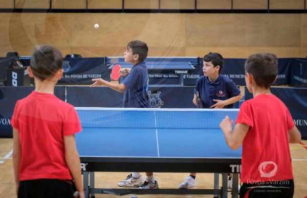
[[[43,81],[55,75],[62,68],[63,56],[60,50],[52,45],[36,46],[31,55],[33,75]]]

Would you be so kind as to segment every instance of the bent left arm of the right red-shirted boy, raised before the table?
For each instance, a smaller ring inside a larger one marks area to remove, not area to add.
[[[246,123],[237,123],[232,132],[233,120],[228,115],[222,120],[220,127],[224,132],[226,143],[232,150],[236,150],[241,146],[249,130],[249,126]]]

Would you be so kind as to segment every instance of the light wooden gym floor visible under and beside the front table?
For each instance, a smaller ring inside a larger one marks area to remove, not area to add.
[[[17,197],[15,194],[14,171],[12,164],[13,139],[0,138],[0,197]],[[307,140],[301,141],[307,145]],[[307,196],[307,146],[299,144],[290,144],[292,167],[294,174],[295,191],[294,197],[303,198]],[[130,172],[95,172],[96,188],[121,188],[117,182],[124,180]],[[145,174],[141,173],[144,177]],[[159,173],[155,172],[155,180],[158,181],[160,188],[174,188],[185,180],[188,173]],[[221,176],[220,176],[221,178]],[[196,189],[212,189],[213,174],[198,174],[196,177]],[[220,179],[221,187],[221,179]],[[210,197],[213,195],[125,195],[121,197]],[[96,194],[96,197],[119,197],[112,194]],[[228,192],[228,197],[231,197]]]

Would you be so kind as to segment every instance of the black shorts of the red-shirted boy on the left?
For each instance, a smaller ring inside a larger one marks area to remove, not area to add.
[[[20,181],[18,198],[73,198],[72,181],[26,180]]]

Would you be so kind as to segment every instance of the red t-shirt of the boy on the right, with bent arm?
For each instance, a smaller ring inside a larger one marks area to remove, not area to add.
[[[279,98],[259,94],[245,101],[235,123],[250,126],[243,140],[242,182],[293,179],[288,130],[295,123]]]

